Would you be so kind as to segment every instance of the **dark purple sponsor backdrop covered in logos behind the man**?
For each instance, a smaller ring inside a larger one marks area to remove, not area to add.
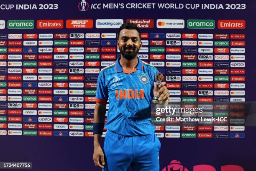
[[[164,74],[170,102],[254,101],[255,7],[249,0],[2,0],[0,162],[100,170],[92,161],[97,75],[120,56],[117,32],[125,22],[141,28],[138,57]],[[255,127],[156,130],[163,171],[173,160],[189,171],[254,170]]]

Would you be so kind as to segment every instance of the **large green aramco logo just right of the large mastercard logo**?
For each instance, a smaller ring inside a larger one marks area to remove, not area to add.
[[[214,20],[187,20],[187,28],[214,29]]]

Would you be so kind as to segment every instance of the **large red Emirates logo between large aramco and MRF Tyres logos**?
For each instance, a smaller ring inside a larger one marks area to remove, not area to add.
[[[63,20],[37,20],[37,29],[63,28]]]

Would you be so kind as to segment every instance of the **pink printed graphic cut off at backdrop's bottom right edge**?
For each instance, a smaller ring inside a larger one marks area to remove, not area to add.
[[[181,162],[178,160],[173,160],[170,162],[170,165],[163,168],[161,171],[189,171],[185,166],[181,165]],[[213,166],[207,164],[200,164],[193,166],[192,171],[216,171]],[[221,166],[220,171],[244,171],[241,166],[238,165],[225,165]]]

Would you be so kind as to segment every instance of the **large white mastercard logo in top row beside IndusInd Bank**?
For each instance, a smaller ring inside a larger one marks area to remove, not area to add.
[[[185,21],[184,20],[165,20],[158,19],[156,20],[157,28],[184,28]]]

